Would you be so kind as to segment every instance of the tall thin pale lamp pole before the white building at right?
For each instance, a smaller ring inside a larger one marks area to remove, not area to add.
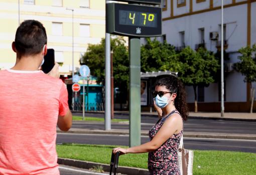
[[[223,0],[221,0],[221,117],[224,117],[223,38]]]

